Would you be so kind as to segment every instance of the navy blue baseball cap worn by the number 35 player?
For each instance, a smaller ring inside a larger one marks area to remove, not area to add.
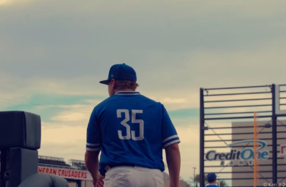
[[[137,81],[137,76],[135,70],[131,67],[123,64],[115,64],[111,66],[108,74],[107,80],[102,80],[99,83],[109,84],[110,80],[129,80],[132,82]]]

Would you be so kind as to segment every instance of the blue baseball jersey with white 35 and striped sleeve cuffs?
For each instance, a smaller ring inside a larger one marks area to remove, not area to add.
[[[163,149],[179,143],[163,104],[137,91],[116,92],[92,111],[86,150],[101,151],[99,171],[106,167],[137,165],[165,170]]]

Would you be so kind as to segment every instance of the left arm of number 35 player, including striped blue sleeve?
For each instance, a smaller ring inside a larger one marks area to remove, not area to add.
[[[85,153],[85,165],[86,169],[90,172],[93,180],[98,179],[99,176],[99,153],[102,143],[102,135],[100,131],[100,126],[97,123],[95,109],[90,116],[90,120],[87,128],[86,137],[86,153]]]

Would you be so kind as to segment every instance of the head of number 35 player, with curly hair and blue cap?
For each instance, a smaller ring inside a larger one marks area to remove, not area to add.
[[[139,86],[135,70],[126,64],[115,64],[111,66],[107,80],[100,81],[108,85],[109,96],[117,91],[135,91]]]

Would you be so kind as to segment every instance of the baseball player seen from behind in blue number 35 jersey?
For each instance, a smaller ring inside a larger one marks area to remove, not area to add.
[[[85,163],[94,186],[163,187],[163,149],[170,187],[179,187],[180,142],[163,104],[138,91],[135,70],[115,64],[109,98],[95,106],[87,128]],[[100,161],[98,159],[99,153]]]

